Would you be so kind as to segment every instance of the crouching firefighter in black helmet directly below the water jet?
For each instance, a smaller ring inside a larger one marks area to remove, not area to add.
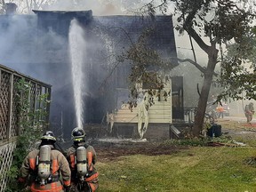
[[[99,186],[98,176],[94,164],[96,152],[85,143],[85,132],[76,127],[71,133],[73,145],[68,148],[68,163],[71,169],[71,188],[83,192],[93,192]]]

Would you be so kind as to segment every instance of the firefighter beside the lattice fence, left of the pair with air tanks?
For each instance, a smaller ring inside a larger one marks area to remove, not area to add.
[[[39,148],[24,159],[19,182],[28,181],[32,192],[64,192],[64,189],[69,192],[71,171],[66,157],[55,149],[53,132],[44,132],[40,140]]]

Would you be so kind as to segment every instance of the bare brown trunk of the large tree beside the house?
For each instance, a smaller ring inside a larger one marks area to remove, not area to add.
[[[204,124],[204,113],[207,106],[207,100],[212,84],[212,76],[217,63],[218,50],[212,47],[211,51],[208,52],[208,64],[204,73],[204,84],[200,92],[195,116],[195,124],[193,127],[193,134],[195,137],[200,135]]]

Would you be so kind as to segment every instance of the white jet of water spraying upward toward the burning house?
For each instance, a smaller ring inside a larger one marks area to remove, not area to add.
[[[84,30],[77,20],[71,20],[68,34],[70,62],[72,68],[72,80],[74,89],[76,124],[83,127],[84,103],[83,103],[83,61],[85,52]]]

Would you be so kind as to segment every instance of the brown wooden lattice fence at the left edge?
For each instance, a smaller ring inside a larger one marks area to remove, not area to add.
[[[6,188],[7,172],[12,164],[12,152],[16,146],[15,140],[20,133],[18,103],[14,96],[19,92],[15,84],[22,78],[31,84],[28,95],[29,110],[42,108],[38,101],[40,95],[47,93],[48,100],[51,98],[51,85],[0,65],[0,192],[4,192]],[[46,105],[48,116],[44,121],[49,122],[50,103]]]

